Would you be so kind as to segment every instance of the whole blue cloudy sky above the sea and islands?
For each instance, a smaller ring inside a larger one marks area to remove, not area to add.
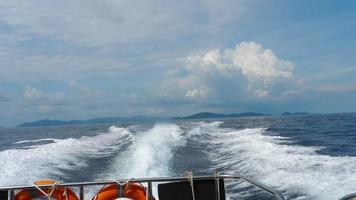
[[[355,112],[356,1],[2,0],[0,126]]]

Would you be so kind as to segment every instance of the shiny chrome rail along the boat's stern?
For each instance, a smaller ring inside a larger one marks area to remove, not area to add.
[[[243,181],[246,181],[250,183],[251,185],[254,185],[267,193],[275,196],[279,200],[285,200],[283,195],[274,190],[273,188],[270,188],[262,183],[259,183],[253,179],[250,179],[245,176],[240,176],[240,175],[212,175],[212,176],[194,176],[194,180],[207,180],[207,179],[240,179]],[[93,186],[93,185],[107,185],[107,184],[116,184],[117,182],[125,182],[128,179],[117,179],[116,182],[113,180],[103,180],[103,181],[89,181],[89,182],[77,182],[77,183],[61,183],[58,185],[58,187],[77,187],[79,188],[79,199],[84,200],[84,187],[85,186]],[[130,182],[136,182],[136,183],[147,183],[147,189],[148,193],[152,193],[152,183],[154,182],[171,182],[171,181],[183,181],[187,180],[187,177],[157,177],[157,178],[133,178],[130,179]],[[52,187],[52,185],[41,185],[41,188],[46,188],[46,187]],[[0,186],[0,192],[7,192],[9,200],[13,200],[15,196],[15,190],[22,190],[22,189],[35,189],[34,186],[28,186],[28,185],[15,185],[15,186]],[[2,200],[2,199],[1,199]]]

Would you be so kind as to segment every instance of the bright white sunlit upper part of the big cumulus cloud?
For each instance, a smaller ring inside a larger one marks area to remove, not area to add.
[[[242,42],[235,49],[216,49],[203,55],[189,56],[186,59],[191,71],[215,71],[221,73],[241,73],[252,84],[275,79],[290,78],[294,64],[278,58],[272,50],[264,49],[255,42]]]

